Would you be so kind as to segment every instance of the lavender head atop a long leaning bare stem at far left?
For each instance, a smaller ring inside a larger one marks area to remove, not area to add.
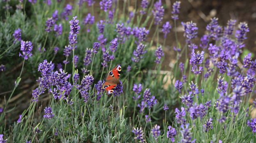
[[[28,57],[32,56],[32,53],[31,53],[32,49],[33,49],[32,42],[21,40],[21,51],[22,51],[22,54],[19,53],[19,56],[21,56],[25,60],[27,60]]]

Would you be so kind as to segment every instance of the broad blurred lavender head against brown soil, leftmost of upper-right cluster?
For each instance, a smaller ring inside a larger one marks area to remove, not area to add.
[[[191,43],[191,40],[194,38],[197,38],[197,24],[191,22],[181,22],[181,25],[183,26],[185,32],[184,37],[186,38],[187,43]]]

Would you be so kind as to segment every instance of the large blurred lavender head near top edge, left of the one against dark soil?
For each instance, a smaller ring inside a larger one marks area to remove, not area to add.
[[[164,12],[165,12],[165,9],[162,6],[161,0],[159,0],[158,2],[155,2],[154,9],[152,10],[152,13],[155,19],[155,25],[158,25],[161,23],[162,18],[165,14]]]

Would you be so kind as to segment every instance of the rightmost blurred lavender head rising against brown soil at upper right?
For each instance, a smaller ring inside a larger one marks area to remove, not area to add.
[[[249,32],[249,28],[245,22],[240,22],[238,28],[239,29],[235,32],[235,38],[237,38],[238,42],[242,43],[247,39],[246,34]]]

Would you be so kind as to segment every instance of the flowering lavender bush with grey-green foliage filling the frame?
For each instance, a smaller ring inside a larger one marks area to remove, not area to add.
[[[161,0],[142,0],[133,11],[126,1],[119,9],[119,0],[1,4],[0,143],[256,141],[250,116],[256,106],[249,104],[256,60],[244,52],[246,22],[220,25],[212,18],[205,35],[198,35],[204,27],[179,20],[179,1],[166,23]],[[183,40],[177,26],[183,27]],[[161,74],[171,34],[176,63],[170,74]],[[119,83],[107,95],[105,75],[118,63]],[[171,82],[164,88],[166,78]],[[23,96],[28,82],[30,102],[14,112],[21,103],[13,100]]]

